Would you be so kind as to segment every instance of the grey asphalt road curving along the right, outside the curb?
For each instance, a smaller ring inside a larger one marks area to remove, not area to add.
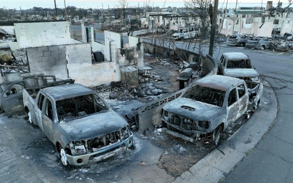
[[[264,54],[244,49],[241,52],[251,58],[260,75],[269,76],[264,79],[275,87],[278,114],[263,140],[224,182],[293,182],[293,57],[276,52]]]

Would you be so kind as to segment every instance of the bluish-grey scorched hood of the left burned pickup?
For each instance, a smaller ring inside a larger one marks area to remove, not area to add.
[[[73,139],[73,141],[92,139],[125,126],[127,122],[114,111],[86,116],[59,124]]]

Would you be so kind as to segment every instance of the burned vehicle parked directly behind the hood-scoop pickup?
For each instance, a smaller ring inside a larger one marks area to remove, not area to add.
[[[245,80],[249,91],[249,109],[257,108],[263,92],[263,84],[247,55],[238,52],[224,53],[218,63],[218,74]]]

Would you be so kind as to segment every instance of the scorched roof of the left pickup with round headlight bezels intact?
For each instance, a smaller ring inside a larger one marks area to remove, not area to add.
[[[50,94],[56,101],[94,93],[88,87],[76,83],[46,87],[42,90],[44,93]]]

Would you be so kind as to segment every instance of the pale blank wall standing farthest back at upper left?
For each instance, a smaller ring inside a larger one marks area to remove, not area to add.
[[[76,43],[70,22],[16,23],[14,28],[19,48]]]

